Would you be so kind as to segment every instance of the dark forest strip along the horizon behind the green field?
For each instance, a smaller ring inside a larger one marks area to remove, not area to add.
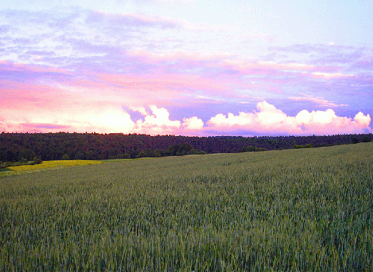
[[[6,133],[0,134],[0,162],[53,159],[130,159],[193,154],[237,153],[325,147],[371,142],[370,134],[325,136],[140,135],[121,133]]]

